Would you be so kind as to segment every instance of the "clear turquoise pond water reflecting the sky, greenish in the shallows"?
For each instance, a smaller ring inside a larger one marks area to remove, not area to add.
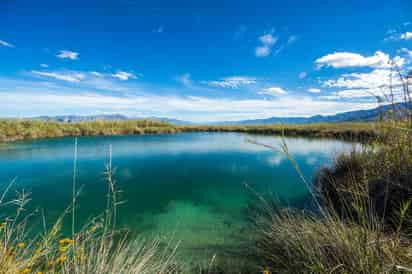
[[[219,253],[247,234],[247,207],[255,192],[290,206],[306,206],[307,189],[279,148],[281,139],[237,133],[82,137],[78,140],[79,220],[103,211],[107,186],[104,165],[113,148],[115,178],[126,201],[119,223],[142,237],[180,241],[193,260]],[[353,145],[334,140],[287,138],[291,154],[308,180]],[[33,207],[49,220],[70,204],[73,138],[0,146],[0,188],[17,177],[16,187],[32,193]]]

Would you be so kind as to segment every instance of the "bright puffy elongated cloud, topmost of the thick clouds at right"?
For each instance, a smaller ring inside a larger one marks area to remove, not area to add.
[[[377,51],[373,56],[365,57],[352,52],[335,52],[318,58],[315,64],[318,68],[349,68],[349,67],[371,67],[385,68],[389,67],[389,55]]]

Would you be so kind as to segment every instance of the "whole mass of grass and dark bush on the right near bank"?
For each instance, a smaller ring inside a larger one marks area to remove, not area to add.
[[[379,138],[339,156],[309,186],[319,202],[317,212],[262,202],[253,218],[256,245],[251,252],[260,269],[412,272],[412,127],[396,121],[377,125]],[[287,146],[283,150],[289,155]]]

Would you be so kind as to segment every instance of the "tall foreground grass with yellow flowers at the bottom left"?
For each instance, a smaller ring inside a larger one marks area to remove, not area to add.
[[[42,215],[43,228],[30,227],[39,215],[26,209],[29,193],[17,192],[12,197],[10,184],[0,195],[0,273],[175,273],[176,245],[161,247],[158,240],[131,239],[127,231],[116,227],[119,201],[111,155],[105,172],[107,208],[76,230],[76,158],[75,149],[72,205],[50,227]],[[70,213],[72,233],[67,237],[62,227]]]

